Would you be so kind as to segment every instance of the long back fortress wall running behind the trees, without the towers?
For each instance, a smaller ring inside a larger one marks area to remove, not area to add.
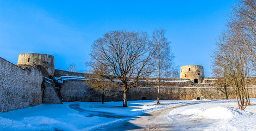
[[[56,76],[85,76],[85,73],[72,73],[64,70],[56,70]],[[87,74],[88,75],[88,74]],[[207,78],[209,81],[214,78]],[[61,94],[64,102],[101,102],[100,92],[93,90],[88,85],[86,79],[62,79]],[[164,79],[161,82],[160,99],[162,100],[192,100],[192,99],[225,99],[224,93],[211,87],[211,84],[194,84],[192,85],[189,79]],[[208,87],[206,87],[208,86]],[[210,87],[209,87],[210,86]],[[128,100],[156,100],[157,99],[157,82],[155,79],[149,79],[142,82],[138,87],[131,88],[128,91]],[[234,99],[234,94],[231,94],[232,88],[229,88],[229,98]],[[106,94],[105,102],[122,101],[122,88],[115,95]],[[249,88],[251,97],[256,97],[256,88]]]

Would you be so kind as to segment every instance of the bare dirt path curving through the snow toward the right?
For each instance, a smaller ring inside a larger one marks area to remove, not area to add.
[[[151,111],[147,114],[138,116],[137,118],[132,118],[132,120],[113,123],[108,125],[107,127],[102,127],[98,130],[174,130],[174,126],[172,126],[170,118],[167,117],[169,112],[182,106],[194,104],[200,103],[186,104]]]

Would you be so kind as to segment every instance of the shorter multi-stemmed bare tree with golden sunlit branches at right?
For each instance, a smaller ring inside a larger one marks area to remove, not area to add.
[[[243,41],[238,35],[240,29],[232,22],[217,41],[217,50],[213,54],[213,72],[221,75],[225,85],[233,87],[239,109],[249,104],[248,96],[248,57]]]

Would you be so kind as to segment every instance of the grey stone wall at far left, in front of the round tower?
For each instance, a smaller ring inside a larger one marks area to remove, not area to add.
[[[0,112],[41,104],[42,82],[39,70],[21,69],[0,57]]]

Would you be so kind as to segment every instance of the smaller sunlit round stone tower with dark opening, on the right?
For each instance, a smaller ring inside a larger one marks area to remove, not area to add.
[[[194,84],[199,84],[203,82],[204,68],[198,65],[183,66],[180,76],[182,79],[190,79]]]

